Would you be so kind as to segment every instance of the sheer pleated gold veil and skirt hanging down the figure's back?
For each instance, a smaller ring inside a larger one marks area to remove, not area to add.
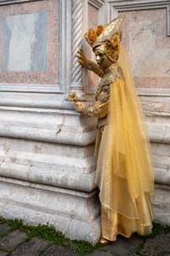
[[[96,143],[102,236],[111,241],[117,234],[150,233],[150,195],[154,193],[150,142],[122,46],[117,65],[123,79],[110,85],[107,123]]]

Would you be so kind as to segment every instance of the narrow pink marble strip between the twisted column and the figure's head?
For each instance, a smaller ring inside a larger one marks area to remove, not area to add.
[[[96,9],[88,3],[88,28],[96,27],[99,25],[99,9]],[[94,52],[88,47],[88,59],[95,61]],[[96,90],[99,78],[96,74],[88,71],[88,92],[93,93]]]

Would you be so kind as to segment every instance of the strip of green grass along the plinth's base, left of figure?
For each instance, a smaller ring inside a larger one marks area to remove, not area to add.
[[[39,237],[46,241],[51,241],[52,244],[58,245],[70,249],[79,255],[86,255],[87,253],[93,253],[96,249],[102,247],[99,243],[92,245],[88,241],[77,241],[66,238],[61,232],[55,230],[53,225],[39,224],[37,226],[31,226],[29,224],[23,224],[22,220],[18,219],[4,219],[0,218],[0,224],[8,224],[10,230],[20,230],[27,233],[28,238]]]

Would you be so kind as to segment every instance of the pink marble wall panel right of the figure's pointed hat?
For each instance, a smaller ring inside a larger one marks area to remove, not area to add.
[[[166,9],[126,12],[122,44],[137,87],[170,87],[170,38]]]

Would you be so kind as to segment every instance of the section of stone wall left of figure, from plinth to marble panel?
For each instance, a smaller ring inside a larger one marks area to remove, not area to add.
[[[104,12],[105,1],[0,1],[0,215],[91,242],[100,236],[96,120],[65,98],[91,90],[76,54]]]

